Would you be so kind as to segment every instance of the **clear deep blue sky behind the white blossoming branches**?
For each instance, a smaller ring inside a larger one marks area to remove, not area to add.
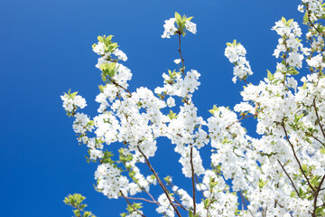
[[[89,209],[99,217],[124,211],[122,199],[108,200],[94,191],[96,165],[87,164],[86,146],[78,145],[73,119],[61,108],[62,92],[78,90],[88,100],[84,112],[96,114],[94,99],[102,81],[91,45],[98,35],[114,34],[127,54],[125,65],[134,74],[130,90],[141,86],[153,90],[179,58],[177,39],[161,38],[163,21],[175,11],[194,16],[198,33],[182,40],[182,52],[187,69],[201,73],[194,102],[200,116],[209,118],[207,110],[214,104],[233,107],[240,100],[243,84],[231,81],[226,42],[237,39],[246,47],[255,73],[249,81],[256,83],[266,69],[275,69],[274,22],[284,16],[301,24],[298,4],[294,0],[0,1],[2,215],[71,216],[70,207],[62,203],[68,193],[85,195]],[[152,164],[161,176],[172,175],[178,185],[189,187],[190,179],[180,175],[179,156],[172,152],[173,146],[162,140]],[[147,216],[157,216],[154,208],[148,208]]]

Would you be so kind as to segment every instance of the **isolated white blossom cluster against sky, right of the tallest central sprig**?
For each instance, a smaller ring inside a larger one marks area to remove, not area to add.
[[[246,49],[240,43],[234,41],[228,44],[225,55],[231,63],[235,64],[234,78],[232,79],[236,83],[237,78],[240,80],[246,80],[248,75],[252,75],[253,71],[249,65],[249,61],[246,61]]]

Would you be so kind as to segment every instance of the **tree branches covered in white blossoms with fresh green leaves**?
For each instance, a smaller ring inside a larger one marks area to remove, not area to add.
[[[98,36],[92,47],[104,82],[96,97],[98,116],[77,111],[86,106],[77,92],[61,96],[63,108],[75,118],[79,143],[88,146],[88,161],[98,164],[98,192],[124,198],[123,217],[148,216],[143,206],[149,205],[156,207],[156,216],[170,217],[325,216],[324,6],[322,0],[302,0],[298,10],[304,13],[305,34],[292,19],[275,23],[272,30],[279,43],[274,56],[279,62],[258,84],[248,81],[253,71],[244,46],[236,40],[227,43],[233,81],[245,82],[243,100],[234,109],[213,106],[207,120],[198,116],[192,98],[200,73],[185,70],[181,53],[183,36],[197,32],[192,17],[175,13],[165,21],[162,37],[177,38],[180,59],[174,60],[175,70],[163,73],[162,87],[154,90],[128,90],[132,73],[120,63],[127,60],[125,53],[112,35]],[[302,72],[302,64],[309,71]],[[246,133],[241,124],[246,118],[255,119],[259,137]],[[151,164],[159,137],[171,141],[191,189],[170,176],[161,177]],[[110,146],[119,146],[118,153]],[[210,159],[201,158],[203,146],[210,147]],[[209,167],[202,165],[205,160],[211,162]],[[161,191],[157,198],[151,193],[154,185]],[[137,193],[146,196],[135,197]],[[65,202],[73,205],[71,198]]]

